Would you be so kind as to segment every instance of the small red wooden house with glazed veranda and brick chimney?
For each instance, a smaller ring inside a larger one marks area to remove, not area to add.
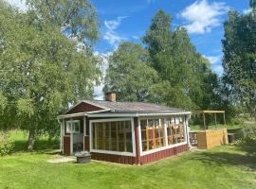
[[[141,102],[84,100],[58,116],[64,155],[91,152],[92,159],[143,164],[188,150],[191,112]]]

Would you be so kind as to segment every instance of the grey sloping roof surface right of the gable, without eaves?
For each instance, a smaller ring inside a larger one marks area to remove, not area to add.
[[[111,112],[183,112],[180,109],[144,102],[110,102],[101,100],[86,102],[99,107],[105,107]]]

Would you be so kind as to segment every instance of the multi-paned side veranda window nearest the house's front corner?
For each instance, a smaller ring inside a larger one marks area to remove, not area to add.
[[[142,151],[148,151],[165,145],[164,120],[140,120]]]

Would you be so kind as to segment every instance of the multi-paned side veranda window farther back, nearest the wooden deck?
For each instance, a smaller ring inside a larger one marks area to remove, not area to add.
[[[166,120],[168,145],[182,143],[184,137],[184,118],[172,117]]]

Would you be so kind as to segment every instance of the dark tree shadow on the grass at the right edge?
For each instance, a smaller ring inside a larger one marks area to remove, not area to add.
[[[256,170],[256,156],[248,154],[243,155],[239,153],[231,152],[215,152],[215,151],[206,151],[194,154],[192,159],[198,160],[202,163],[219,166],[246,166],[249,169]]]

